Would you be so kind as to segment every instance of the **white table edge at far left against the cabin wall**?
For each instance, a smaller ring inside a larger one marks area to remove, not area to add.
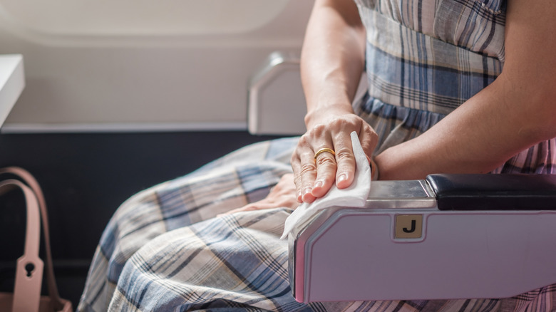
[[[0,55],[0,127],[25,88],[23,56]]]

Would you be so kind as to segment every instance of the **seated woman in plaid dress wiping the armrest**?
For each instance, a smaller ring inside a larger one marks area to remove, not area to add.
[[[376,162],[380,179],[420,179],[433,172],[556,172],[556,4],[356,4],[315,1],[302,52],[308,132],[300,140],[244,147],[125,202],[103,234],[78,310],[548,311],[556,306],[553,286],[493,300],[294,301],[287,243],[278,239],[284,220],[299,202],[323,196],[333,183],[351,184],[352,130]],[[364,70],[369,90],[352,109]],[[329,150],[319,152],[323,148]]]

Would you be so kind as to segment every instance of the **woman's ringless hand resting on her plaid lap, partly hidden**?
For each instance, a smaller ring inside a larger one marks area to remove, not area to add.
[[[298,205],[299,203],[295,199],[294,175],[288,173],[282,176],[278,184],[276,184],[270,190],[270,193],[264,199],[261,199],[258,202],[252,202],[251,204],[247,204],[244,207],[230,210],[225,214],[233,214],[235,212],[248,212],[251,210],[260,209],[273,209],[279,207],[296,209]]]

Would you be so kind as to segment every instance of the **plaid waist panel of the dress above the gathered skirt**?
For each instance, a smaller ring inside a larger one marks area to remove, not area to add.
[[[502,71],[498,58],[419,33],[371,9],[364,16],[371,98],[448,114]]]

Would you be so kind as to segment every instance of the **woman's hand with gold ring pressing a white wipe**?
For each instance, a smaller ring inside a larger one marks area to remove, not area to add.
[[[292,155],[292,168],[297,202],[313,202],[324,196],[334,182],[339,189],[354,181],[355,157],[351,147],[351,132],[357,132],[361,147],[369,160],[378,142],[373,128],[354,113],[333,115],[326,123],[307,131]],[[315,154],[321,149],[333,150]]]

